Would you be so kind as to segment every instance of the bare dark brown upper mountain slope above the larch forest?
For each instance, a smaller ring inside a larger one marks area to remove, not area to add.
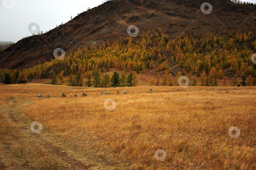
[[[224,28],[227,28],[255,33],[253,7],[244,8],[229,0],[209,1],[213,11],[204,14],[200,10],[203,2],[205,0],[108,1],[43,35],[21,39],[0,53],[0,68],[22,69],[34,66],[45,59],[49,61],[54,58],[53,51],[56,48],[68,52],[82,44],[90,43],[97,46],[105,40],[125,39],[128,36],[126,29],[129,25],[137,26],[140,33],[162,27],[171,36],[182,32],[190,33],[193,26],[194,32],[215,33],[217,29],[223,33]],[[171,22],[174,26],[169,27]],[[182,22],[184,26],[181,26]],[[109,33],[109,38],[102,38]]]

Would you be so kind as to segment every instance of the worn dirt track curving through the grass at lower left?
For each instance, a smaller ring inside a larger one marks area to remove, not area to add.
[[[92,167],[91,165],[83,164],[81,161],[78,161],[72,155],[67,154],[67,149],[65,149],[64,151],[64,149],[61,148],[60,146],[56,146],[54,144],[54,140],[56,141],[56,139],[53,139],[53,137],[48,135],[46,137],[41,133],[34,133],[33,131],[31,131],[30,126],[23,122],[21,118],[18,118],[18,114],[21,114],[19,108],[29,105],[33,102],[32,100],[21,98],[9,100],[10,101],[6,103],[8,108],[6,110],[6,115],[9,118],[9,121],[12,124],[15,124],[15,126],[17,126],[21,131],[25,132],[28,138],[31,138],[31,143],[36,145],[42,145],[46,152],[50,153],[51,155],[54,155],[55,157],[57,156],[58,160],[64,162],[67,166],[67,169],[89,169],[90,167]],[[5,165],[2,163],[0,168],[5,168]]]

